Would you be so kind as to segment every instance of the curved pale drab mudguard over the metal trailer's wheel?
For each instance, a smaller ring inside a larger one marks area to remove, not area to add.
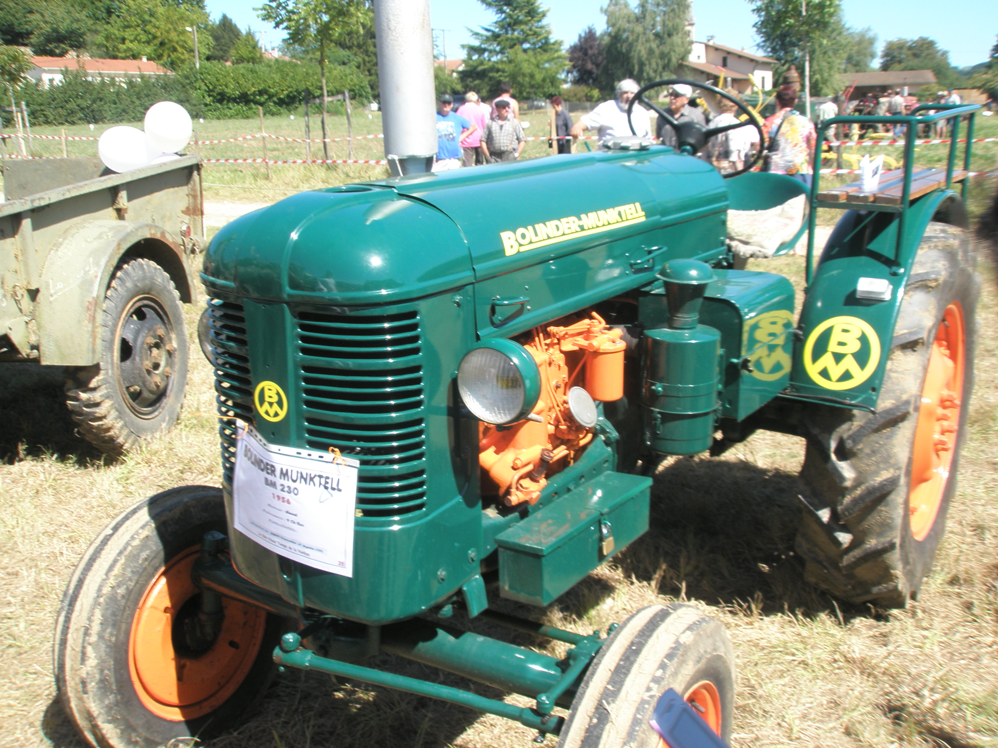
[[[35,302],[40,363],[90,366],[100,360],[104,294],[118,266],[139,257],[163,267],[181,299],[192,300],[184,250],[155,223],[92,220],[58,239]]]

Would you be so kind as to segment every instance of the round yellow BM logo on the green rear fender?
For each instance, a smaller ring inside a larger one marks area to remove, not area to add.
[[[817,360],[815,347],[824,350]],[[856,317],[826,319],[804,343],[807,376],[829,390],[847,390],[862,384],[879,362],[880,339],[869,324]],[[848,377],[843,379],[846,374]]]

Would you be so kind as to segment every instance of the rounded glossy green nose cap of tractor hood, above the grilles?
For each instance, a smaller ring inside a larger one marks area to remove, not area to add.
[[[300,192],[222,228],[210,287],[250,298],[387,303],[465,285],[468,246],[442,212],[387,187]]]

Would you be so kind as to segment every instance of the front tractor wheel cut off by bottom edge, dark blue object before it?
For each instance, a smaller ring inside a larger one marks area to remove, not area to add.
[[[668,688],[731,739],[732,642],[719,621],[693,605],[650,605],[614,631],[572,701],[558,748],[659,748],[662,738],[648,720]]]

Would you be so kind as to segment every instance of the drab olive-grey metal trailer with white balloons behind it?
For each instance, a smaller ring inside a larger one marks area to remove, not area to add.
[[[201,164],[3,163],[0,361],[62,366],[83,436],[118,455],[176,422],[205,233]]]

